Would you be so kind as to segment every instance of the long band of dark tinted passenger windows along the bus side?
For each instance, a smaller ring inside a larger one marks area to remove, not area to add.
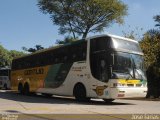
[[[72,44],[29,55],[12,61],[12,69],[26,69],[58,63],[72,63],[86,60],[87,41],[79,40]]]

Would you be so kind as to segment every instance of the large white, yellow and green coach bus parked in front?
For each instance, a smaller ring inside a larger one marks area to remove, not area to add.
[[[12,61],[11,85],[19,93],[74,96],[78,101],[145,97],[143,53],[135,40],[97,35],[37,51]]]

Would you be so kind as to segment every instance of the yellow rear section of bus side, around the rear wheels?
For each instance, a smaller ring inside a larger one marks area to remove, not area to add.
[[[30,84],[30,91],[34,92],[38,88],[44,87],[44,79],[48,73],[50,65],[44,67],[34,67],[11,72],[12,89],[17,90],[19,82]]]

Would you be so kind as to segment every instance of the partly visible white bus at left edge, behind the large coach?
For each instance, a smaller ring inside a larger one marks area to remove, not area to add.
[[[10,89],[10,71],[8,67],[0,68],[0,88],[1,89]]]

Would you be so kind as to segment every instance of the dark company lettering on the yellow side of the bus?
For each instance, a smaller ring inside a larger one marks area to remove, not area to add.
[[[30,69],[30,70],[25,70],[24,75],[39,75],[43,74],[44,69],[43,68],[38,68],[38,69]]]

